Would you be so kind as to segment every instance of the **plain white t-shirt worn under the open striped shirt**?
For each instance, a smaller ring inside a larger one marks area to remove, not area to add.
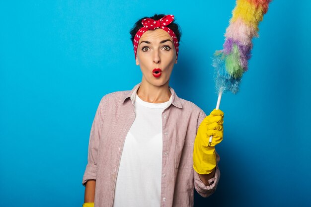
[[[125,138],[113,207],[160,207],[162,112],[171,103],[149,103],[137,94],[135,120]]]

